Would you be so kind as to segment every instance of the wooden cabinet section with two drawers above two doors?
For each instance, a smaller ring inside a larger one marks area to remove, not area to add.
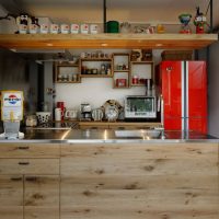
[[[0,219],[59,219],[59,145],[0,145]]]

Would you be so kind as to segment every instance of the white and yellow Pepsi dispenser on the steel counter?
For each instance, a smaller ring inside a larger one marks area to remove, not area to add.
[[[20,132],[20,123],[23,119],[23,101],[22,91],[1,92],[1,120],[3,120],[4,132],[0,134],[0,138],[24,138],[24,134]]]

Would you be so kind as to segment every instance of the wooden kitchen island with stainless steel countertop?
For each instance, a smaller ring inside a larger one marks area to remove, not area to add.
[[[0,218],[218,219],[218,165],[193,131],[30,129],[0,140]]]

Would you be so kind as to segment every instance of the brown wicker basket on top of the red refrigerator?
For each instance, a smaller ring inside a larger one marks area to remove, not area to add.
[[[164,50],[161,54],[162,60],[192,60],[193,50]]]

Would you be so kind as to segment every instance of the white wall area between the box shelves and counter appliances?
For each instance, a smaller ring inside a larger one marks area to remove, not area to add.
[[[56,102],[65,101],[67,108],[79,108],[83,102],[94,108],[102,106],[107,100],[116,100],[122,105],[125,95],[143,95],[146,88],[113,89],[111,78],[83,78],[79,84],[56,84]]]

